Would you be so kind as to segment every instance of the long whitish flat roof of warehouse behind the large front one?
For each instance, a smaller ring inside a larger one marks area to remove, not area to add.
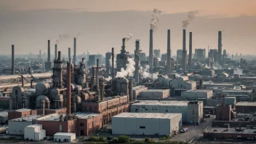
[[[188,106],[188,101],[172,101],[172,100],[140,100],[138,103],[132,105],[177,105],[177,106]]]

